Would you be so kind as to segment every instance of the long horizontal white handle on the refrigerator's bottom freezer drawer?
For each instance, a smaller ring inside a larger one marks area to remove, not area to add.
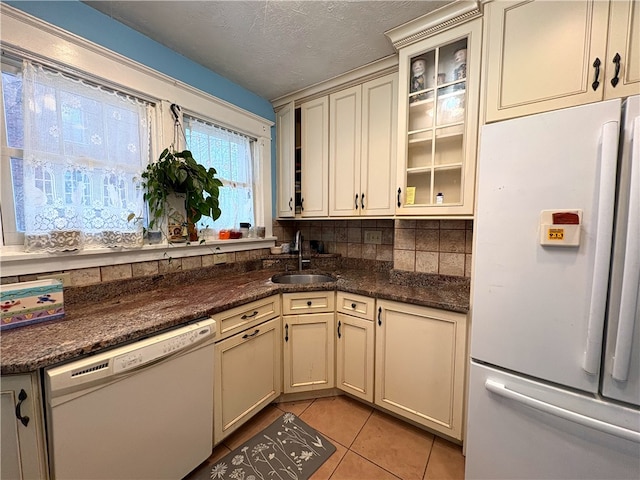
[[[587,417],[585,415],[582,415],[581,413],[567,410],[566,408],[558,407],[557,405],[553,405],[551,403],[543,402],[542,400],[529,397],[520,392],[516,392],[515,390],[509,390],[504,384],[491,379],[487,379],[484,382],[484,386],[487,390],[495,393],[496,395],[521,403],[541,412],[548,413],[549,415],[553,415],[563,420],[568,420],[570,422],[577,423],[584,427],[592,428],[600,432],[608,433],[609,435],[613,435],[615,437],[630,440],[635,443],[640,443],[640,432],[619,427],[618,425],[613,425],[611,423],[603,422],[602,420],[598,420],[596,418]]]

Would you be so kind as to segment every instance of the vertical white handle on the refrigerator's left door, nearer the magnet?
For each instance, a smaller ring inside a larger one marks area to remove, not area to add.
[[[591,375],[598,374],[604,334],[618,162],[618,129],[618,122],[607,122],[602,126],[597,223],[592,227],[596,235],[596,250],[593,283],[591,284],[591,304],[589,305],[587,346],[582,364],[584,371]]]

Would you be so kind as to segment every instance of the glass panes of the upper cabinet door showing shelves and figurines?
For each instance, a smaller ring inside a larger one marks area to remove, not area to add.
[[[461,201],[466,80],[466,38],[411,57],[406,204]]]

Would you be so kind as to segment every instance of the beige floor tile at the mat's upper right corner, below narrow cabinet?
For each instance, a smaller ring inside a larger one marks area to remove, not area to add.
[[[373,409],[347,396],[319,398],[300,418],[345,447],[351,446]]]

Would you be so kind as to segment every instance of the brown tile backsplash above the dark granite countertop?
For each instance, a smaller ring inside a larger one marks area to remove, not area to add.
[[[291,242],[302,231],[304,249],[322,242],[326,253],[343,258],[393,262],[395,270],[471,276],[472,220],[274,220],[278,243]],[[365,241],[366,240],[366,241]],[[268,249],[227,252],[68,270],[71,285],[96,285],[114,280],[194,270],[221,263],[234,264],[263,258]],[[67,271],[67,270],[65,270]],[[61,273],[61,271],[50,272]],[[43,274],[38,274],[43,275]],[[36,280],[38,275],[2,277],[2,283]]]

